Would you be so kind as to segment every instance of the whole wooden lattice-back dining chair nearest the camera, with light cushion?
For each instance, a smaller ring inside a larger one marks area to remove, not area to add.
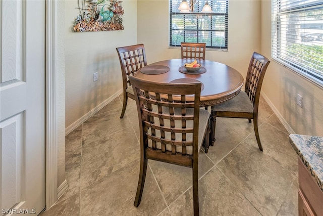
[[[209,112],[199,108],[201,83],[129,79],[140,127],[140,172],[134,205],[140,204],[147,160],[151,159],[192,168],[194,215],[199,215],[198,155],[209,136]]]

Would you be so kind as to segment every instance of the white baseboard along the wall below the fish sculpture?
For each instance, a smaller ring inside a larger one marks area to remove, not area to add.
[[[79,118],[77,121],[73,122],[70,126],[65,128],[65,136],[71,133],[75,128],[80,126],[84,121],[86,121],[88,118],[92,117],[96,112],[98,112],[100,109],[102,109],[105,105],[109,104],[111,101],[113,101],[115,98],[117,98],[123,90],[119,90],[115,94],[113,94],[110,98],[106,99],[102,103],[100,103],[98,106],[94,107],[91,111],[83,115],[81,118]]]

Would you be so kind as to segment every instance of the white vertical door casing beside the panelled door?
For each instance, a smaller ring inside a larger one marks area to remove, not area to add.
[[[46,209],[57,201],[56,139],[56,8],[57,1],[46,0]]]

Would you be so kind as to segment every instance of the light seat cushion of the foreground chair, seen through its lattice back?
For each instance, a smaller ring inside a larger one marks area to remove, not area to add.
[[[169,113],[169,110],[166,110],[163,108],[163,112],[164,113]],[[188,115],[193,115],[194,110],[193,109],[187,109],[187,114]],[[175,113],[180,115],[181,114],[181,110],[180,109],[175,109]],[[202,144],[203,144],[203,138],[204,138],[204,134],[205,134],[205,130],[208,127],[209,123],[209,116],[210,113],[205,110],[205,109],[200,109],[200,114],[199,114],[199,122],[198,122],[198,150],[201,149]],[[155,123],[159,125],[159,119],[155,118]],[[165,121],[164,122],[165,126],[169,126],[170,123],[169,121]],[[187,127],[193,127],[193,121],[187,121]],[[180,128],[181,127],[181,122],[180,121],[175,121],[175,127]],[[147,132],[148,134],[151,134],[151,129],[148,130]],[[171,134],[170,133],[165,133],[165,138],[170,140],[171,139]],[[206,135],[208,136],[208,135]],[[156,131],[156,137],[160,137],[160,132]],[[180,141],[182,139],[181,134],[176,134],[176,140]],[[193,136],[192,134],[187,134],[187,141],[192,141],[193,140]],[[151,140],[148,140],[148,147],[152,147],[152,143]],[[161,149],[161,143],[156,143],[156,148],[157,149]],[[171,151],[172,150],[172,146],[170,144],[166,145],[166,150],[167,151]],[[176,152],[182,152],[182,146],[176,146]],[[193,154],[193,146],[187,146],[186,147],[186,154],[188,155],[192,155]]]

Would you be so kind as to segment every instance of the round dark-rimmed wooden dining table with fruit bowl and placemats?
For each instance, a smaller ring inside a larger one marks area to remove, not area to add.
[[[202,68],[187,71],[185,63],[194,59],[171,59],[149,64],[135,73],[135,77],[160,83],[201,82],[200,106],[211,106],[236,96],[243,85],[243,77],[236,69],[209,60],[197,60]]]

